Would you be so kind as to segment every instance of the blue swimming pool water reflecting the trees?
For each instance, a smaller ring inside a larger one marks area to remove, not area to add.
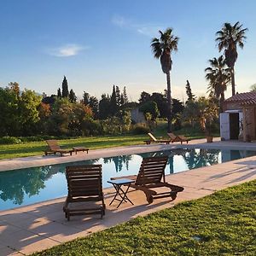
[[[137,174],[143,157],[157,155],[168,155],[166,174],[172,174],[256,155],[256,151],[174,149],[0,172],[0,210],[67,195],[66,166],[102,164],[103,187],[106,188],[111,186],[107,183],[110,177]]]

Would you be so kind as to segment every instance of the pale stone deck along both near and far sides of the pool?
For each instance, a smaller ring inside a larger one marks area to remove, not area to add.
[[[205,143],[205,140],[194,140],[188,145],[175,143],[171,145],[153,144],[109,148],[91,150],[89,154],[80,153],[67,157],[38,156],[1,160],[0,171],[171,148],[256,150],[256,143],[220,142],[216,139],[213,143]],[[251,181],[255,178],[256,156],[253,156],[166,176],[169,183],[184,187],[184,191],[179,193],[177,199],[172,202],[164,198],[148,205],[142,192],[131,190],[128,196],[133,201],[134,206],[131,206],[130,203],[124,203],[117,209],[114,203],[111,207],[108,206],[113,198],[113,189],[104,189],[107,211],[102,219],[98,216],[78,216],[67,222],[62,212],[64,198],[0,211],[0,255],[26,255],[40,251],[61,244],[61,242],[73,240],[76,237],[87,236],[98,230],[107,229],[137,216],[144,216],[150,212],[173,207],[181,201],[210,195],[219,189]]]

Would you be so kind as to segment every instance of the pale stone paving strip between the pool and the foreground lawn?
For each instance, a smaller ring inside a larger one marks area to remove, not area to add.
[[[152,148],[162,147],[166,148],[166,145],[153,146]],[[128,148],[131,150],[131,147]],[[150,145],[150,150],[153,151],[155,149],[152,150]],[[66,159],[66,157],[59,157],[58,159]],[[112,188],[104,189],[107,210],[102,219],[98,216],[75,216],[71,217],[68,222],[62,212],[64,198],[1,211],[0,255],[26,255],[40,251],[64,241],[70,241],[77,237],[88,236],[99,230],[108,229],[137,216],[145,216],[150,212],[173,207],[181,201],[194,200],[211,195],[219,189],[244,183],[255,178],[256,156],[253,156],[247,159],[234,160],[224,164],[201,167],[166,176],[167,182],[184,187],[184,191],[177,195],[175,201],[163,198],[155,200],[148,205],[143,192],[133,190],[128,193],[128,196],[134,206],[127,202],[117,209],[117,203],[113,203],[111,207],[108,206],[113,198],[114,190]]]

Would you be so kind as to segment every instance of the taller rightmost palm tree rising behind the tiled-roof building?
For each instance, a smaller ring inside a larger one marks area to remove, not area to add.
[[[237,59],[236,45],[243,49],[243,43],[246,39],[245,32],[247,28],[242,28],[242,24],[239,21],[234,26],[230,23],[224,23],[222,29],[216,32],[218,42],[218,50],[224,49],[224,55],[226,64],[230,67],[231,84],[232,84],[232,96],[236,94],[235,90],[235,72],[234,67]]]

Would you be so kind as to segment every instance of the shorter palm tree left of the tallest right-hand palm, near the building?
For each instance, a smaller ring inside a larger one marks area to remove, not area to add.
[[[209,81],[208,91],[210,95],[219,99],[221,112],[225,100],[224,91],[227,90],[227,84],[230,83],[230,68],[226,66],[224,56],[209,60],[210,66],[205,69],[206,79]]]

